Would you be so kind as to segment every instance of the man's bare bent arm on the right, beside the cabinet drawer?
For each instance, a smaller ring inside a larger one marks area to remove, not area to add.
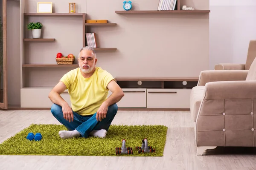
[[[105,105],[110,106],[114,103],[119,102],[123,96],[125,96],[122,89],[119,87],[119,85],[116,83],[115,80],[111,80],[108,83],[108,89],[112,92],[112,94],[108,97],[108,99],[105,100]]]

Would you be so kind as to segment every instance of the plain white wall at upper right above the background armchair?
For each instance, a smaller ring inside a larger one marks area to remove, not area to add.
[[[210,0],[209,69],[217,63],[244,63],[256,39],[256,0]]]

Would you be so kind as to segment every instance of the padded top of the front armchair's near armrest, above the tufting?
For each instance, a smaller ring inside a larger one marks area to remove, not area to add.
[[[204,99],[253,99],[256,98],[256,81],[208,82]]]

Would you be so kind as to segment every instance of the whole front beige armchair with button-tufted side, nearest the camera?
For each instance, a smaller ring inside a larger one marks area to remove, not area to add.
[[[202,71],[190,110],[197,156],[218,146],[256,146],[256,59],[249,70]]]

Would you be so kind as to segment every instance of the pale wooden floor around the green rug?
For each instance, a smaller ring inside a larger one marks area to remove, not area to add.
[[[59,124],[50,111],[0,111],[0,143],[32,123]],[[189,111],[118,111],[112,124],[166,125],[164,156],[0,155],[0,170],[256,170],[253,148],[216,148],[196,156]]]

